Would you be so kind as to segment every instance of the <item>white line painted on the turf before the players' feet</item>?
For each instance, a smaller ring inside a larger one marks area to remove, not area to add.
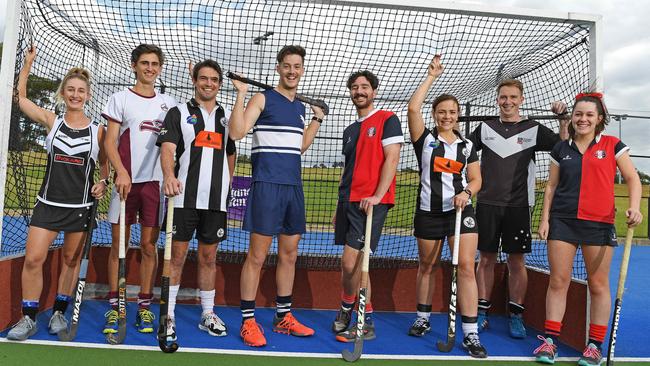
[[[128,344],[110,345],[103,343],[86,343],[86,342],[61,342],[61,341],[43,341],[28,339],[22,342],[15,342],[0,338],[0,343],[16,343],[16,344],[35,344],[43,346],[63,346],[63,347],[76,347],[76,348],[101,348],[101,349],[123,349],[134,351],[156,351],[160,352],[160,348],[156,346],[136,346]],[[241,355],[241,356],[275,356],[275,357],[309,357],[309,358],[341,358],[340,353],[307,353],[307,352],[276,352],[276,351],[258,351],[258,350],[233,350],[233,349],[220,349],[220,348],[191,348],[180,347],[178,352],[187,353],[216,353],[224,355]],[[431,360],[431,361],[461,361],[461,360],[476,360],[470,356],[434,356],[434,355],[381,355],[381,354],[364,354],[364,359],[373,360]],[[534,361],[534,357],[520,357],[520,356],[489,356],[491,361]],[[577,357],[558,357],[556,361],[575,362]],[[616,361],[621,362],[650,362],[650,357],[616,357]]]

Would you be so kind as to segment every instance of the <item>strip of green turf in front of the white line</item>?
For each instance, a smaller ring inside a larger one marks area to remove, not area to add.
[[[178,365],[233,365],[233,366],[287,366],[287,365],[347,365],[340,358],[277,357],[252,355],[217,355],[209,353],[177,352],[164,354],[156,351],[57,347],[33,344],[0,343],[1,365],[48,366],[178,366]],[[416,366],[416,365],[539,365],[532,361],[469,361],[469,360],[368,360],[354,363],[359,366]],[[556,362],[556,365],[575,365],[575,362]],[[650,363],[616,362],[616,365],[650,365]]]

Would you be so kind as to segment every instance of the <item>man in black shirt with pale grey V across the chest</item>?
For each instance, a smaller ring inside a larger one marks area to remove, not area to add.
[[[487,311],[494,285],[494,265],[499,246],[508,254],[508,295],[510,336],[525,338],[524,298],[528,286],[525,254],[532,237],[530,213],[535,194],[535,153],[550,151],[568,137],[568,120],[561,120],[560,134],[519,113],[524,103],[524,87],[519,80],[502,81],[497,87],[499,118],[482,122],[469,136],[481,150],[483,185],[478,192],[476,221],[478,249],[478,329],[488,326]],[[553,113],[564,113],[566,104],[554,102]]]

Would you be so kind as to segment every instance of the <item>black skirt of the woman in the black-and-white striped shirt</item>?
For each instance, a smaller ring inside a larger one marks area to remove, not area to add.
[[[476,225],[476,216],[474,207],[467,205],[461,215],[460,233],[478,233]],[[428,211],[416,210],[413,218],[413,227],[418,239],[440,240],[449,236],[454,236],[454,226],[456,225],[456,210],[443,213],[433,213]]]

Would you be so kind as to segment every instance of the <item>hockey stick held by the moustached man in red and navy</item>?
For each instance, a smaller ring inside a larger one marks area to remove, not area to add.
[[[361,262],[361,285],[359,288],[359,310],[357,312],[357,337],[354,341],[354,351],[344,349],[343,359],[354,362],[361,357],[363,352],[363,326],[366,323],[366,292],[368,291],[368,267],[370,264],[370,239],[372,235],[372,206],[368,209],[366,217],[366,233],[363,241],[363,260]]]

